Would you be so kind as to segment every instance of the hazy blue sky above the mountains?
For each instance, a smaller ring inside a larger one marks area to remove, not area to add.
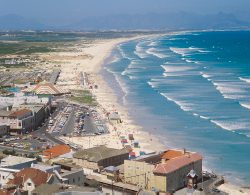
[[[0,0],[0,16],[16,14],[49,25],[116,14],[192,12],[235,14],[250,21],[250,0]]]

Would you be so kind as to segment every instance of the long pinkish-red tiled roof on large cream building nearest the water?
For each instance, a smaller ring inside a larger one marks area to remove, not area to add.
[[[158,174],[168,174],[168,173],[171,173],[173,171],[180,169],[181,167],[185,165],[189,165],[199,160],[202,160],[202,156],[199,153],[186,154],[180,157],[170,159],[166,161],[166,163],[164,164],[156,165],[153,172],[158,173]]]

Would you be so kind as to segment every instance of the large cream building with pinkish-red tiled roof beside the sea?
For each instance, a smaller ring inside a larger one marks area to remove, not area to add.
[[[199,153],[169,150],[161,154],[124,161],[125,183],[144,189],[173,193],[187,186],[190,171],[202,177],[202,156]]]

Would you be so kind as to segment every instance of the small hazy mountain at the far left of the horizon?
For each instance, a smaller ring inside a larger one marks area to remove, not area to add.
[[[22,16],[9,14],[0,16],[0,30],[42,30],[46,25]]]

